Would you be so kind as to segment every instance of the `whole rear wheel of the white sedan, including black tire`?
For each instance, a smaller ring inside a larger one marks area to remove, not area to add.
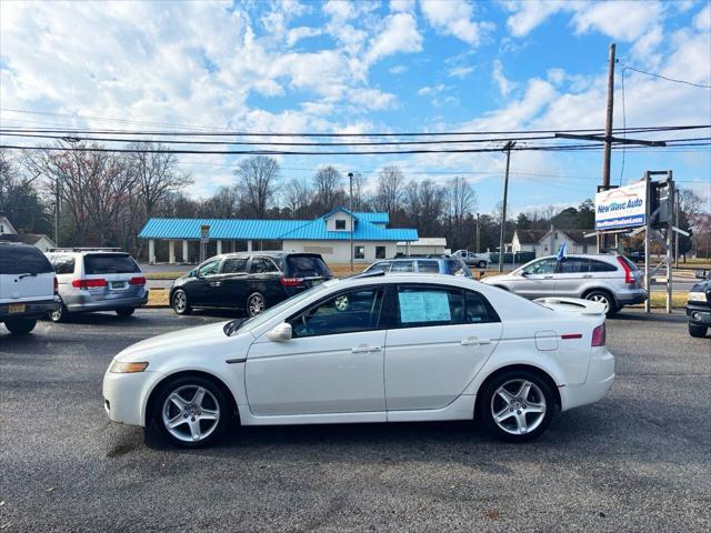
[[[511,370],[487,383],[478,406],[480,420],[494,436],[524,442],[535,439],[551,423],[555,398],[537,373]]]

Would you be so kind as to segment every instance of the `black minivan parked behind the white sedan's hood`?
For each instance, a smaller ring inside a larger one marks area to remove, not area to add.
[[[254,316],[331,278],[318,253],[227,253],[178,278],[170,288],[170,305],[178,314],[193,308],[229,308]]]

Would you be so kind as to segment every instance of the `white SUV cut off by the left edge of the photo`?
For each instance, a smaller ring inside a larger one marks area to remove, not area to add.
[[[34,247],[0,242],[0,322],[11,333],[29,333],[37,319],[59,309],[57,278]]]

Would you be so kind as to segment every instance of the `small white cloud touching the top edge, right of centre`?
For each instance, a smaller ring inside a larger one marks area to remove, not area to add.
[[[420,9],[430,26],[475,47],[482,34],[493,29],[491,22],[474,22],[473,8],[465,0],[420,0]]]

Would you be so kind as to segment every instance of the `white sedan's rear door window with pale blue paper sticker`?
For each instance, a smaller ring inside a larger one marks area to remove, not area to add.
[[[400,328],[463,324],[464,296],[457,289],[401,285],[395,323]]]

